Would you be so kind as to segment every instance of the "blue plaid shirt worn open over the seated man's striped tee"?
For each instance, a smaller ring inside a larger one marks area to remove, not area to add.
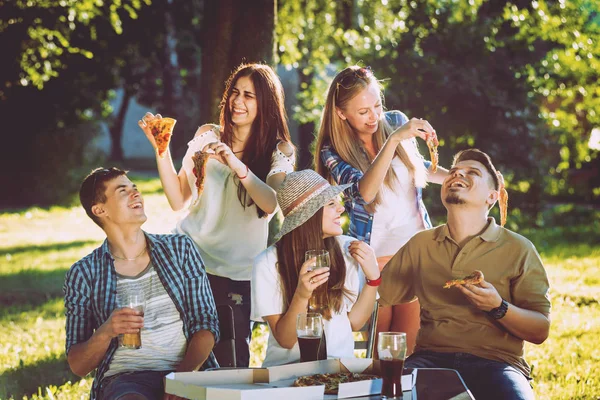
[[[212,332],[218,342],[219,320],[215,302],[194,243],[185,235],[145,235],[150,259],[179,311],[188,342],[200,330]],[[107,240],[71,267],[63,291],[68,354],[71,346],[89,340],[116,308],[117,275]],[[117,347],[118,340],[114,338],[96,370],[90,399],[97,398]],[[215,356],[210,353],[201,369],[218,366]]]

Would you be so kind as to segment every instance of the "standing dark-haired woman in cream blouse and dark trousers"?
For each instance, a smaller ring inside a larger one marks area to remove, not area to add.
[[[283,87],[269,66],[242,64],[226,83],[220,125],[198,128],[179,173],[169,151],[156,156],[171,208],[188,207],[176,232],[198,246],[216,304],[233,306],[238,366],[250,360],[252,261],[267,247],[269,220],[277,209],[275,190],[294,168],[283,101]],[[155,149],[150,125],[160,118],[147,113],[138,123]],[[198,193],[192,157],[202,153],[210,158]]]

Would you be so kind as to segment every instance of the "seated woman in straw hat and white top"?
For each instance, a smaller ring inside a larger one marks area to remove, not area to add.
[[[271,330],[263,367],[300,360],[296,318],[321,285],[327,289],[321,311],[327,355],[353,357],[352,331],[371,316],[381,278],[373,249],[342,235],[338,196],[347,187],[303,170],[289,173],[277,191],[285,217],[280,240],[255,259],[252,273],[252,319]],[[327,250],[330,268],[312,271],[315,259],[304,260],[308,250]],[[360,293],[359,269],[367,278]]]

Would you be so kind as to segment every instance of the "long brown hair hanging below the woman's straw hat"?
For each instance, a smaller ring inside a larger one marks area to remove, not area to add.
[[[304,264],[304,253],[308,250],[329,252],[329,279],[327,301],[329,307],[322,310],[323,318],[331,319],[331,310],[340,312],[344,296],[352,297],[352,292],[344,287],[346,282],[346,262],[342,249],[335,237],[323,239],[323,207],[308,221],[283,235],[275,245],[277,249],[277,271],[281,279],[283,308],[287,310],[298,287],[298,273]],[[324,292],[321,292],[324,293]],[[318,299],[320,304],[324,302]]]

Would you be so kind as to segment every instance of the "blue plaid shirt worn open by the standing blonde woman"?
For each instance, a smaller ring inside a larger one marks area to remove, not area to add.
[[[400,111],[388,111],[385,113],[385,118],[393,129],[408,122],[406,115]],[[352,184],[352,186],[346,189],[346,196],[344,198],[344,207],[350,217],[348,235],[370,243],[371,231],[373,229],[373,214],[365,209],[368,203],[362,198],[358,190],[359,181],[363,177],[362,171],[342,160],[330,144],[323,146],[321,149],[321,160],[329,169],[331,176],[338,185]],[[424,164],[425,168],[429,168],[431,162],[424,161]],[[423,204],[423,192],[421,188],[417,188],[415,201],[417,202],[425,229],[431,228],[431,220],[429,219],[425,204]]]

